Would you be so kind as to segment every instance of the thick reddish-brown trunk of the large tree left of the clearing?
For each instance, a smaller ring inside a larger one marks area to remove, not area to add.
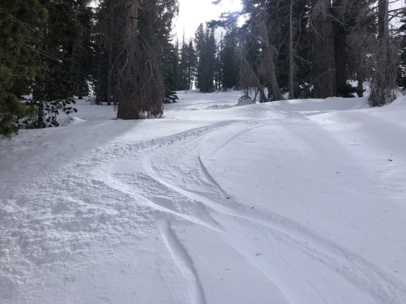
[[[139,119],[137,94],[138,0],[121,0],[118,119]]]

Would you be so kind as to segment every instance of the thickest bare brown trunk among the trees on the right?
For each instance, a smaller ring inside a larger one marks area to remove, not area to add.
[[[333,18],[329,0],[313,0],[313,97],[336,95]]]

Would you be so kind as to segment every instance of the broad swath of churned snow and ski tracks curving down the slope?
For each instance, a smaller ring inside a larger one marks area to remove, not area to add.
[[[292,296],[295,290],[314,303],[327,303],[331,300],[328,293],[337,292],[337,288],[342,291],[336,303],[360,303],[360,299],[362,303],[406,303],[404,282],[392,274],[295,220],[253,209],[250,202],[227,193],[210,173],[201,148],[222,130],[236,125],[243,129],[211,147],[213,153],[258,128],[281,124],[284,117],[308,120],[305,115],[281,111],[277,119],[208,121],[206,126],[172,135],[113,141],[99,146],[91,156],[82,156],[52,175],[32,181],[24,193],[2,197],[0,299],[35,303],[29,293],[23,294],[24,285],[35,283],[27,277],[27,269],[37,273],[41,265],[69,262],[72,255],[92,247],[119,250],[126,240],[142,240],[158,229],[189,286],[190,303],[208,303],[207,281],[200,279],[204,270],[195,264],[191,249],[175,229],[195,225],[224,238],[291,303],[301,302],[300,297]],[[263,235],[266,242],[258,248],[262,248],[261,255],[267,252],[272,258],[253,257],[247,251],[253,244],[246,236],[236,235],[240,231],[234,232],[241,225],[247,235]],[[273,272],[278,268],[289,269],[289,274],[279,278]],[[210,275],[210,270],[205,271]],[[319,276],[320,286],[306,280]],[[289,280],[296,285],[289,286]],[[348,291],[358,298],[347,298]]]

